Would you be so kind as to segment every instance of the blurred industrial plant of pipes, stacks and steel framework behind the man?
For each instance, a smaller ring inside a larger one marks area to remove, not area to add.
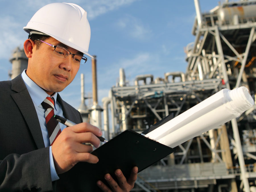
[[[194,2],[196,18],[191,27],[195,41],[185,47],[185,73],[138,74],[134,82],[128,82],[125,70],[117,69],[119,82],[102,99],[102,106],[97,98],[96,56],[92,59],[93,106],[85,105],[81,75],[78,110],[84,121],[102,128],[106,139],[127,129],[142,133],[223,88],[245,86],[255,98],[256,1],[225,1],[206,13],[201,12],[198,0]],[[26,55],[20,49],[10,61],[11,78],[26,68]],[[240,117],[180,144],[174,153],[140,172],[132,191],[255,192],[255,109],[254,104]]]

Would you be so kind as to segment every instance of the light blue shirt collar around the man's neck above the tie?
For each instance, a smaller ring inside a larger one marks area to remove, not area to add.
[[[24,80],[24,83],[26,84],[31,99],[35,102],[37,106],[39,106],[45,100],[46,97],[50,97],[50,95],[48,95],[40,86],[38,86],[32,79],[28,77],[28,75],[26,74],[26,69],[22,72],[21,77]],[[53,98],[54,107],[57,110],[57,94],[55,94]]]

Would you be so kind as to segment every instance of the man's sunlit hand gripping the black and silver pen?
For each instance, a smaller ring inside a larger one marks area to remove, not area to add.
[[[57,174],[67,172],[80,161],[97,163],[98,157],[90,154],[92,146],[82,143],[99,147],[100,140],[96,136],[101,135],[100,129],[89,123],[79,123],[63,129],[51,147]]]

